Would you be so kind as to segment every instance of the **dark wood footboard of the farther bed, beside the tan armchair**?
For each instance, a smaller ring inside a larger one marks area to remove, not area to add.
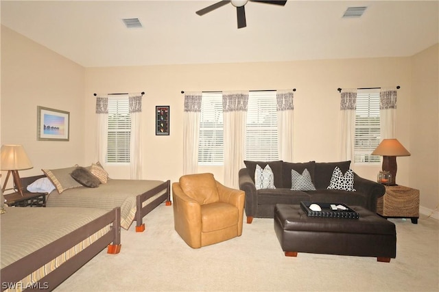
[[[171,206],[171,181],[169,180],[137,196],[136,232],[141,233],[145,230],[143,217],[165,200],[166,206]],[[143,206],[144,202],[146,202],[145,206]]]

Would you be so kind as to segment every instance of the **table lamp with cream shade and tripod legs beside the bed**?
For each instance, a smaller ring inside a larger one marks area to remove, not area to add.
[[[21,186],[19,170],[28,170],[33,168],[32,163],[27,157],[25,148],[22,145],[3,145],[0,150],[0,168],[1,170],[8,170],[6,175],[5,184],[1,191],[5,191],[8,178],[12,173],[14,178],[14,187],[21,196],[23,196],[23,187]]]

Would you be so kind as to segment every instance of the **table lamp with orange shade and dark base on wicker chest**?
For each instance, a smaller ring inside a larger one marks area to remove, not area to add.
[[[396,157],[410,156],[410,152],[396,139],[383,139],[372,155],[383,157],[383,170],[390,172],[389,185],[396,185]]]

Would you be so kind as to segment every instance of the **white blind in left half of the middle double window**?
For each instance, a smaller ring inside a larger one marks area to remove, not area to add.
[[[224,164],[222,92],[203,92],[201,101],[198,165]]]

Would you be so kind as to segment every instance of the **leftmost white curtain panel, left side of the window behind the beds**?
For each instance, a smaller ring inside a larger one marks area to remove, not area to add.
[[[97,137],[97,161],[105,165],[107,159],[107,136],[108,136],[108,94],[96,96],[96,137]]]

